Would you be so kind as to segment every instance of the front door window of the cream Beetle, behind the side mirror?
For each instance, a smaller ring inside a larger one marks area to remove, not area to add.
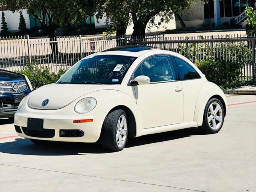
[[[142,62],[134,72],[133,78],[145,75],[150,82],[174,81],[176,74],[169,56],[153,56]]]

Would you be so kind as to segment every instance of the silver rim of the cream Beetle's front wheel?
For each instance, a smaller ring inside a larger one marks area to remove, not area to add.
[[[118,123],[116,126],[116,143],[118,147],[122,147],[126,141],[127,135],[127,122],[126,117],[121,115],[118,119]]]

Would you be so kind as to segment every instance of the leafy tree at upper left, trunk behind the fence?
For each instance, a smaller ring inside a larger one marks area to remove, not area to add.
[[[56,38],[56,28],[65,28],[70,23],[81,24],[83,19],[94,13],[94,0],[0,0],[0,5],[7,10],[26,9],[34,16],[49,38]],[[57,44],[51,43],[52,53],[57,53]]]

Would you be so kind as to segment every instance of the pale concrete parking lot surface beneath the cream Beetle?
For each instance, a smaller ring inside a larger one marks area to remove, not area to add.
[[[256,96],[228,95],[217,134],[198,128],[99,143],[33,144],[0,119],[0,191],[256,191]]]

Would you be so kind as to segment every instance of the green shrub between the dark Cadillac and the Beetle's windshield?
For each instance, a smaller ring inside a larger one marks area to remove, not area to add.
[[[37,89],[40,86],[57,82],[60,76],[66,72],[66,69],[60,68],[56,75],[50,71],[48,66],[42,67],[36,61],[32,61],[32,63],[27,61],[27,66],[16,72],[26,75],[32,87]]]

